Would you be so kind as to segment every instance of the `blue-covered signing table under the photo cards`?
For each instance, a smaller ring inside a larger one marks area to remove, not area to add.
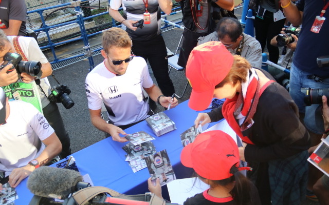
[[[191,177],[193,170],[181,165],[180,152],[182,145],[180,134],[194,124],[198,112],[188,107],[188,100],[179,104],[176,108],[165,111],[172,119],[177,130],[157,137],[146,121],[125,130],[127,134],[145,131],[155,137],[152,140],[157,152],[166,149],[172,163],[176,177]],[[127,144],[113,141],[111,137],[105,138],[96,144],[80,150],[72,156],[75,157],[77,167],[82,175],[89,174],[94,186],[103,186],[124,194],[143,194],[148,192],[147,179],[150,177],[148,169],[142,169],[133,173],[128,162],[125,161],[125,152],[122,147]],[[26,187],[27,179],[24,179],[16,188],[19,199],[16,205],[26,205],[33,194]],[[42,186],[42,185],[40,185]],[[165,195],[167,195],[165,193]],[[164,196],[165,196],[164,195]]]

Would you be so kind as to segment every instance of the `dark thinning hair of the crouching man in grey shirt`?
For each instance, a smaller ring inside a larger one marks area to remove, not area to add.
[[[242,35],[242,26],[239,20],[231,17],[221,18],[217,24],[218,38],[224,38],[228,35],[232,42],[236,42],[237,38]]]

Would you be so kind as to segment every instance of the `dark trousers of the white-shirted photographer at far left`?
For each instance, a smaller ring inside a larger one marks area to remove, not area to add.
[[[46,117],[49,125],[55,130],[56,135],[62,143],[61,158],[71,154],[70,138],[65,130],[63,119],[56,103],[49,103],[42,109],[43,115]]]

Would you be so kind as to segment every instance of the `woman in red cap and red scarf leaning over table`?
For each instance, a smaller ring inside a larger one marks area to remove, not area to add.
[[[306,194],[309,134],[287,90],[220,42],[195,47],[186,76],[192,86],[190,108],[205,110],[213,97],[226,98],[221,107],[199,113],[195,125],[227,120],[244,142],[241,160],[258,166],[255,185],[262,204],[300,204]]]

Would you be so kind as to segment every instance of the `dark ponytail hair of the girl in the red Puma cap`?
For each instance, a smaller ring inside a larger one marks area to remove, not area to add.
[[[233,174],[233,176],[227,178],[227,179],[221,179],[221,180],[210,180],[214,183],[214,185],[219,186],[227,186],[232,182],[235,182],[235,185],[233,189],[229,192],[236,202],[236,205],[252,205],[251,201],[251,181],[245,177],[235,165],[233,165],[230,169],[230,173]],[[195,174],[197,177],[206,179],[200,175],[198,175],[196,172]],[[194,182],[195,183],[195,182]]]

